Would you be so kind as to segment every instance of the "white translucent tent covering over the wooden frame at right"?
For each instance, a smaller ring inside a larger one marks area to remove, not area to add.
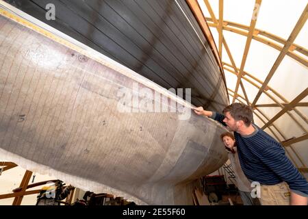
[[[283,60],[274,70],[274,75],[266,84],[267,89],[257,99],[253,109],[255,123],[259,127],[264,127],[275,115],[279,115],[281,111],[284,112],[269,126],[266,125],[264,130],[279,142],[283,142],[287,155],[306,178],[308,177],[307,3],[307,0],[198,0],[217,48],[220,46],[219,18],[222,18],[222,36],[235,64],[235,66],[232,65],[230,54],[222,43],[220,56],[230,103],[233,101],[238,80],[235,67],[240,73],[241,65],[244,66],[245,75],[242,75],[241,81],[251,105],[277,58],[281,55],[285,42],[291,36],[294,37],[294,31],[298,31],[294,42],[290,44]],[[252,18],[255,18],[255,29],[251,26]],[[253,35],[251,44],[248,44],[246,60],[244,60],[244,50],[250,29]],[[299,96],[298,101],[296,97],[299,94],[302,95]],[[235,102],[239,101],[247,104],[241,86],[238,86]],[[288,106],[287,103],[292,101],[298,102],[297,105],[292,105],[290,109],[285,108]]]

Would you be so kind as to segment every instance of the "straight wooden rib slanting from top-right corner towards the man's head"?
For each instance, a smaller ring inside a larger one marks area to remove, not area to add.
[[[292,30],[292,33],[289,36],[289,38],[285,42],[285,46],[283,47],[283,49],[279,53],[277,60],[274,62],[274,65],[270,69],[270,72],[268,73],[268,76],[264,80],[264,83],[262,84],[259,92],[257,93],[257,96],[255,96],[255,99],[253,100],[253,103],[252,103],[252,107],[255,106],[255,104],[257,103],[257,101],[258,101],[259,97],[261,96],[262,92],[264,92],[264,90],[266,89],[266,86],[268,86],[268,82],[270,82],[270,79],[272,79],[272,76],[274,75],[277,68],[281,64],[283,58],[287,54],[287,51],[289,51],[289,49],[292,46],[294,40],[296,39],[296,36],[298,36],[300,29],[302,29],[303,26],[305,25],[307,18],[308,18],[308,4],[306,5],[303,13],[300,15],[300,18],[298,19],[294,29]]]

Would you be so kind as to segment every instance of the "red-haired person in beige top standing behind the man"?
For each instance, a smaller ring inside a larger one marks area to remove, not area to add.
[[[238,159],[238,151],[233,134],[230,132],[225,132],[220,135],[220,138],[222,142],[224,142],[224,146],[228,151],[228,157],[235,175],[235,185],[238,187],[243,205],[260,205],[259,198],[253,198],[251,196],[251,182],[244,175],[244,172],[240,166],[240,160]]]

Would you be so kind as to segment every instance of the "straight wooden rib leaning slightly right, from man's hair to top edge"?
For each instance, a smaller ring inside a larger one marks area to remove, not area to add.
[[[251,47],[251,40],[253,40],[253,32],[255,31],[255,25],[257,23],[257,16],[259,14],[259,7],[261,5],[261,2],[262,2],[262,0],[256,0],[255,1],[255,8],[253,10],[253,16],[251,18],[251,25],[250,25],[249,31],[248,31],[248,36],[247,36],[247,40],[246,40],[246,44],[245,44],[244,54],[243,54],[242,62],[241,62],[241,66],[240,66],[240,73],[238,74],[238,81],[236,81],[236,86],[235,86],[235,91],[234,91],[232,103],[234,103],[236,96],[238,95],[238,87],[240,86],[240,81],[242,79],[243,70],[244,70],[244,66],[246,64],[248,51],[249,51],[249,48]]]

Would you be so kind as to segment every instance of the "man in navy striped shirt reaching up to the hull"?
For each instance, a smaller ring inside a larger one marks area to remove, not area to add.
[[[194,112],[213,118],[229,131],[234,131],[240,164],[249,180],[261,185],[277,185],[285,181],[291,190],[290,205],[307,205],[307,180],[285,156],[281,144],[252,123],[250,107],[233,103],[224,108],[224,115],[203,110],[203,107],[197,107]]]

